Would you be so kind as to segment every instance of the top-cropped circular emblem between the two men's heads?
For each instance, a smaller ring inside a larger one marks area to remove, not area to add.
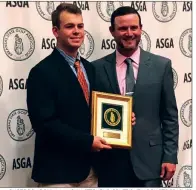
[[[99,16],[106,22],[110,22],[112,13],[118,8],[123,6],[123,2],[115,1],[98,1],[97,12]]]

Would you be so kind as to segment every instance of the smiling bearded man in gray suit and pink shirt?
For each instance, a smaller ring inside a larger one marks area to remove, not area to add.
[[[135,9],[116,9],[109,29],[117,48],[93,63],[96,90],[134,92],[137,123],[131,151],[100,152],[99,187],[160,187],[177,164],[179,125],[171,60],[138,46],[142,24]]]

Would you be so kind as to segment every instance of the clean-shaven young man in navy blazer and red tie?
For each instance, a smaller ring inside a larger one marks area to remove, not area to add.
[[[78,53],[84,40],[81,10],[62,3],[52,24],[56,48],[28,77],[27,106],[36,133],[32,178],[41,187],[96,187],[93,152],[111,147],[90,135],[94,70]]]

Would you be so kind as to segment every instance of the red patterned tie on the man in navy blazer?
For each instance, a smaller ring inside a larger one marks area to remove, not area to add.
[[[87,85],[86,79],[84,77],[84,73],[80,67],[80,61],[76,60],[76,62],[74,63],[74,66],[76,68],[77,75],[78,75],[78,81],[80,83],[80,86],[82,87],[85,99],[86,99],[87,103],[89,104],[88,85]]]

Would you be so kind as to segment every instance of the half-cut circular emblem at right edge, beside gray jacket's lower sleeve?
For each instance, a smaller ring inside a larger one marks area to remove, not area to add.
[[[187,100],[180,109],[182,123],[190,127],[192,125],[192,99]]]

